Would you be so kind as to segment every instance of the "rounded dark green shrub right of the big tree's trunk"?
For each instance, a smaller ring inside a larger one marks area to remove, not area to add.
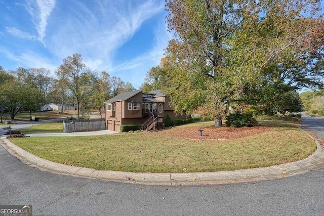
[[[229,114],[225,119],[226,126],[234,127],[252,127],[258,123],[251,113]]]

